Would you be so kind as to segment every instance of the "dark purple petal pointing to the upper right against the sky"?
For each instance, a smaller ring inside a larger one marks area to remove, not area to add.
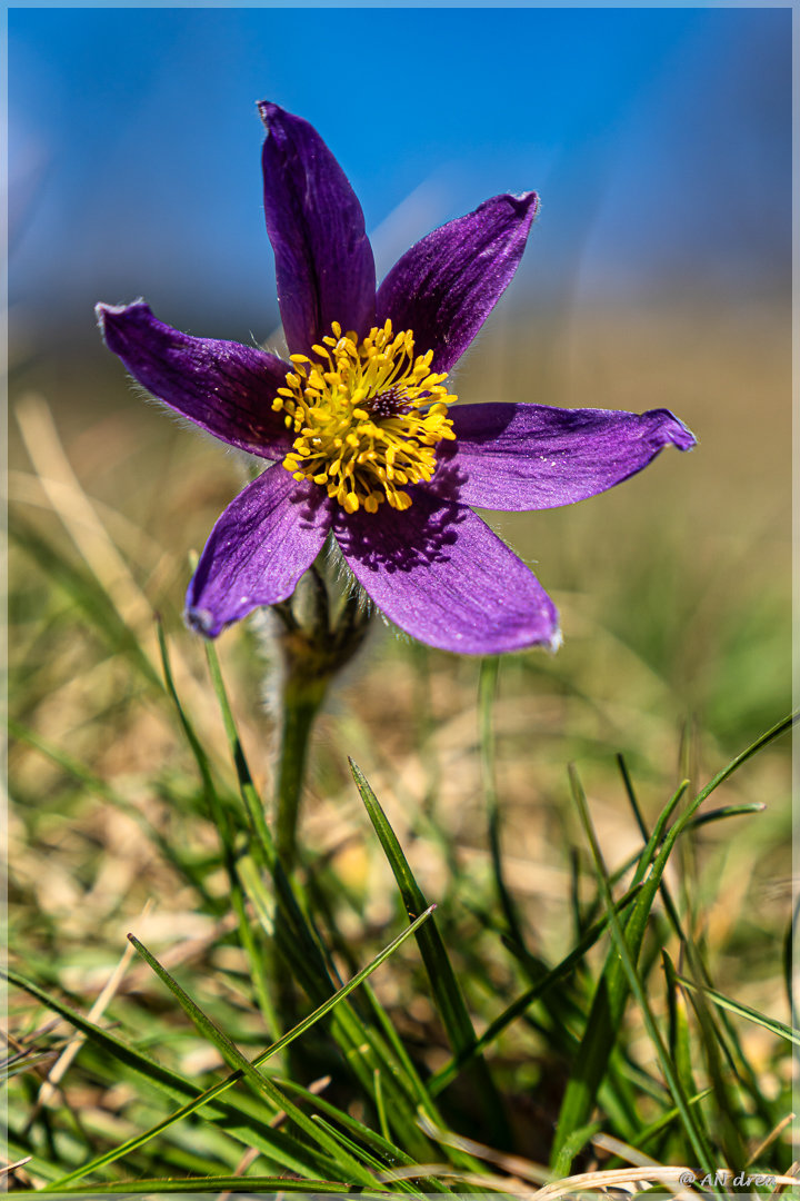
[[[416,353],[449,371],[511,283],[537,204],[535,192],[495,196],[417,241],[380,285],[378,323],[411,329]]]

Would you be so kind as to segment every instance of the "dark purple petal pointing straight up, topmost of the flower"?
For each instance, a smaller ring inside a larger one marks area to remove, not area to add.
[[[307,353],[331,323],[363,336],[374,324],[375,264],[363,213],[313,125],[263,102],[264,211],[283,329]]]

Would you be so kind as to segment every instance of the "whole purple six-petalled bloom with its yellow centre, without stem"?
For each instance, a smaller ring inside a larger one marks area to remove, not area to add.
[[[473,506],[571,504],[693,436],[663,408],[455,405],[449,375],[511,282],[536,195],[495,196],[434,229],[375,292],[342,168],[307,121],[259,108],[290,362],[181,334],[144,301],[97,306],[107,345],[149,392],[276,460],[215,525],[187,620],[215,638],[284,600],[332,532],[378,608],[421,641],[467,653],[558,645],[552,600]]]

